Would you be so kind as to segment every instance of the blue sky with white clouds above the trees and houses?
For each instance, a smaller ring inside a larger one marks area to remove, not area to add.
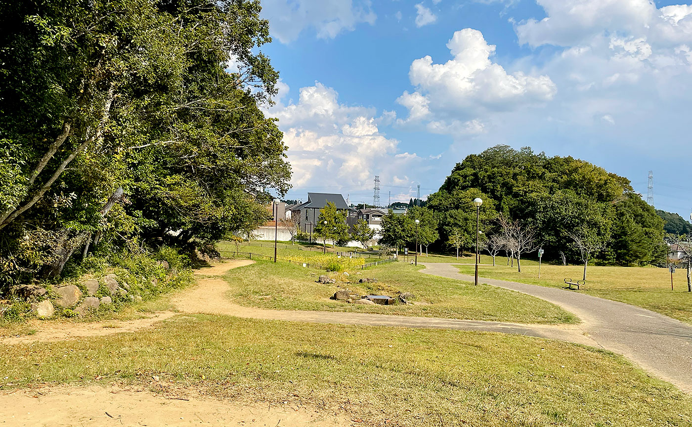
[[[502,143],[628,177],[689,218],[692,6],[648,0],[264,0],[293,189],[435,192]]]

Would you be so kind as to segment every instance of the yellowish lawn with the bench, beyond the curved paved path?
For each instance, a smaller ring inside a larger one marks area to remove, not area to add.
[[[583,266],[543,265],[538,279],[538,266],[524,267],[522,273],[507,266],[480,266],[484,278],[511,280],[547,287],[565,287],[563,280],[581,279]],[[473,275],[473,267],[459,266],[459,271]],[[672,318],[692,323],[692,293],[687,292],[686,271],[678,269],[673,275],[667,269],[655,267],[603,267],[587,269],[586,285],[580,292],[644,307]]]

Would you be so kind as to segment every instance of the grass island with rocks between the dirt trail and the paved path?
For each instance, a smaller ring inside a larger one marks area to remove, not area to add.
[[[281,310],[357,311],[361,313],[399,314],[495,320],[521,323],[574,323],[567,311],[538,298],[487,285],[479,287],[459,280],[437,278],[419,272],[422,266],[392,262],[347,278],[354,283],[321,284],[316,280],[324,271],[305,269],[295,264],[260,261],[224,275],[230,284],[228,295],[240,305]],[[359,278],[379,282],[359,284]],[[354,305],[329,298],[339,288],[359,295],[397,296],[413,293],[413,305]]]

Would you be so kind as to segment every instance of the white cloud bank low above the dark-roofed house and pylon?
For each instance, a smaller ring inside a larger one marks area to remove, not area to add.
[[[281,85],[267,114],[278,118],[284,131],[293,185],[369,185],[374,175],[383,182],[410,182],[397,175],[412,167],[424,170],[428,159],[400,153],[399,141],[380,131],[379,123],[391,121],[391,113],[378,117],[374,109],[343,105],[338,93],[320,82],[301,88],[298,102],[285,99],[288,89]]]

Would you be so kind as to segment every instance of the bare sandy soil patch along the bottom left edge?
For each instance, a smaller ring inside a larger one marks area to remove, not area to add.
[[[0,392],[3,426],[350,426],[340,414],[296,404],[244,405],[185,392],[91,385]]]

